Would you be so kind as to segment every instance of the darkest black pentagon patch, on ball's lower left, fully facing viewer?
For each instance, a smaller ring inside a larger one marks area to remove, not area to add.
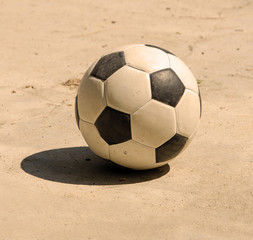
[[[109,144],[131,139],[130,115],[106,107],[95,122],[100,136]]]

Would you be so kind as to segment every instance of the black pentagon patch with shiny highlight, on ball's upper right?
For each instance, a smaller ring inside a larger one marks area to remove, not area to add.
[[[150,74],[150,79],[152,98],[175,107],[185,90],[176,73],[167,68]]]

